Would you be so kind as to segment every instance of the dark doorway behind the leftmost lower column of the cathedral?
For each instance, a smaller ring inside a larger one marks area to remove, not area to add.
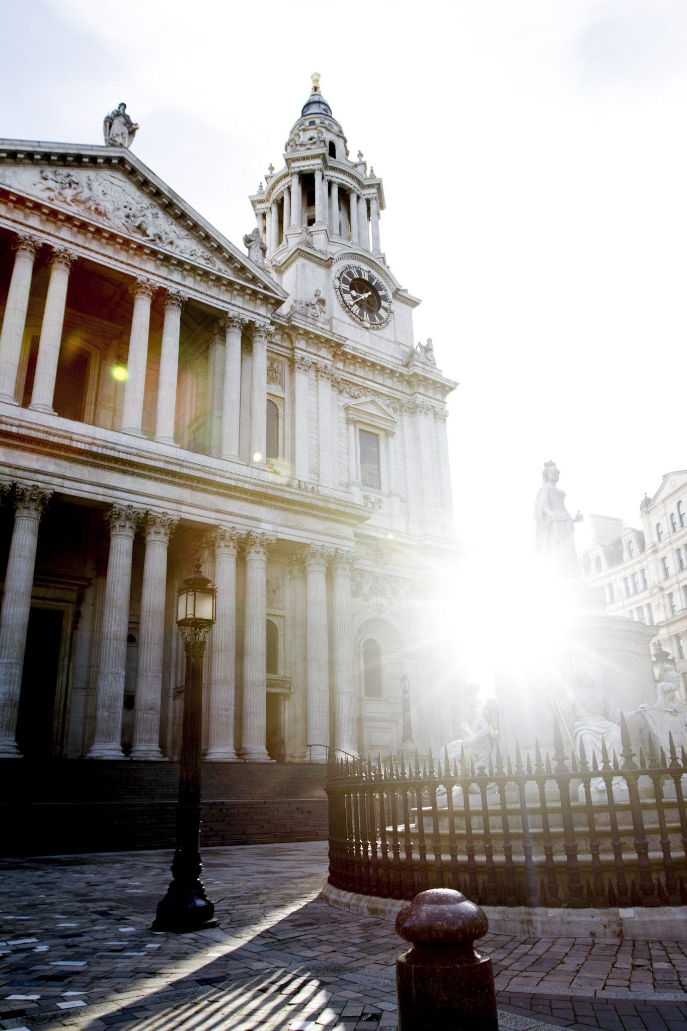
[[[63,618],[64,612],[55,608],[32,608],[29,614],[16,720],[16,743],[28,758],[45,759],[53,755]]]

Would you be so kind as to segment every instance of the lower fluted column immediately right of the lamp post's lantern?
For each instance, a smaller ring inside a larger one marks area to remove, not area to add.
[[[234,750],[234,689],[236,669],[236,553],[241,532],[218,526],[214,542],[216,622],[212,628],[208,762],[238,762]]]

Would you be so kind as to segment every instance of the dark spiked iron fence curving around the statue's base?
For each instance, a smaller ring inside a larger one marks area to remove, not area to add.
[[[554,720],[553,760],[515,767],[496,749],[475,769],[449,762],[330,757],[330,876],[335,888],[412,899],[434,887],[481,905],[571,908],[687,904],[687,757],[649,738],[632,751],[569,757]],[[636,759],[639,758],[639,763]],[[599,765],[600,760],[600,765]]]

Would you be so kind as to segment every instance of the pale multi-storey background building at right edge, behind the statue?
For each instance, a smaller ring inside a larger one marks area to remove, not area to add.
[[[687,702],[687,470],[666,473],[640,517],[642,529],[589,517],[584,576],[604,589],[609,612],[656,627],[652,650],[660,643],[672,654]]]

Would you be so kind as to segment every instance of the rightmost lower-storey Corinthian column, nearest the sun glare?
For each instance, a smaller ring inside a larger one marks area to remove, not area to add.
[[[335,744],[351,756],[357,756],[357,711],[353,687],[353,627],[350,614],[352,566],[352,554],[337,548],[332,561]]]

